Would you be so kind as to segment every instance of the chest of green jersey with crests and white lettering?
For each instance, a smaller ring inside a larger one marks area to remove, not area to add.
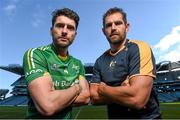
[[[58,57],[46,58],[47,70],[51,75],[55,89],[65,89],[78,79],[80,65],[74,59],[62,61]]]

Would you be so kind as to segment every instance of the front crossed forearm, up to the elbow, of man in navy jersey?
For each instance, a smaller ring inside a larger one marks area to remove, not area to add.
[[[114,103],[142,109],[150,96],[151,87],[148,87],[146,86],[139,89],[139,85],[138,87],[136,85],[118,87],[101,85],[98,89],[98,93],[111,99]]]

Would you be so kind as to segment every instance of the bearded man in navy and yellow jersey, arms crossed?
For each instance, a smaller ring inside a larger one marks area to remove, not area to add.
[[[161,118],[157,94],[155,59],[142,41],[129,40],[126,13],[111,8],[103,16],[103,33],[110,49],[94,65],[90,84],[91,103],[107,104],[109,119]]]

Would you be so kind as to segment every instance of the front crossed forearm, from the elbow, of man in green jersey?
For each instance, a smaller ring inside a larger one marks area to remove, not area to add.
[[[43,115],[51,116],[69,106],[79,95],[80,90],[74,85],[65,90],[51,90],[45,94],[36,96],[36,108]]]

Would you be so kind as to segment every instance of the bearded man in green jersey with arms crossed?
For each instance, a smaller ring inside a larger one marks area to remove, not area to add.
[[[89,103],[89,85],[80,60],[68,53],[79,23],[69,8],[53,12],[47,46],[29,49],[23,58],[28,85],[27,118],[70,119],[72,106]]]

